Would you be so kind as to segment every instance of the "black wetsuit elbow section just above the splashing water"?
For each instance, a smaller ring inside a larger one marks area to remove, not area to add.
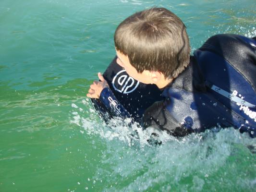
[[[185,136],[192,132],[183,127],[170,112],[165,108],[166,101],[155,102],[152,106],[146,109],[143,119],[142,126],[144,129],[147,127],[154,127],[162,131],[167,131],[173,136]]]

